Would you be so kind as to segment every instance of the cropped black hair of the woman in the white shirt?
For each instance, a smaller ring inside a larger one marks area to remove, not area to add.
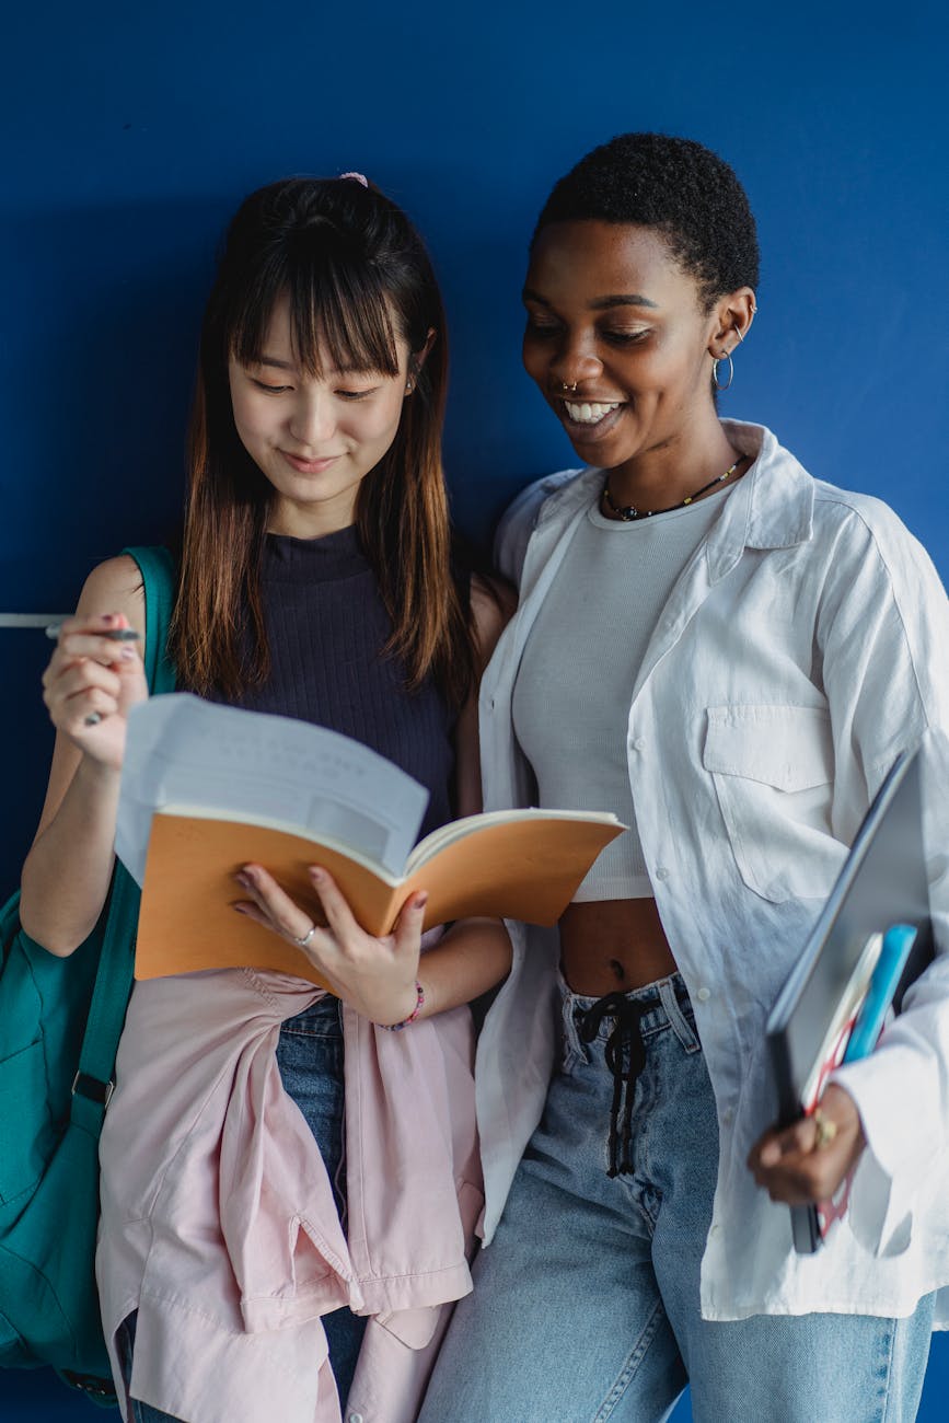
[[[734,171],[710,148],[666,134],[619,134],[553,186],[531,249],[552,222],[654,228],[710,307],[758,285],[758,235]]]

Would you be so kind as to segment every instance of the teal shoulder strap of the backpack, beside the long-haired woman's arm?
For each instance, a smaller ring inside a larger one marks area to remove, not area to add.
[[[168,660],[168,625],[175,599],[175,565],[166,548],[127,548],[141,569],[145,589],[145,676],[152,694],[175,690],[175,669]],[[98,1137],[108,1099],[118,1039],[132,990],[135,929],[141,891],[121,861],[102,914],[107,915],[102,951],[73,1081],[71,1120]]]

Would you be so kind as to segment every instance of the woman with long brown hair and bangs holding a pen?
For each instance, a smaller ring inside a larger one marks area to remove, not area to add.
[[[423,831],[478,808],[472,693],[502,623],[452,561],[445,374],[430,260],[383,194],[296,178],[243,202],[202,330],[168,650],[182,689],[400,764],[430,790]],[[121,628],[144,636],[128,556],[90,575],[44,679],[58,736],[21,912],[58,955],[105,899],[127,713],[147,694],[138,647],[105,636]],[[263,867],[238,881],[236,911],[337,996],[249,970],[135,988],[101,1150],[120,1402],[137,1420],[337,1419],[361,1348],[359,1396],[381,1370],[373,1417],[407,1419],[440,1306],[470,1288],[462,1005],[504,976],[509,943],[467,921],[420,965],[424,895],[380,941],[319,867],[324,928]]]

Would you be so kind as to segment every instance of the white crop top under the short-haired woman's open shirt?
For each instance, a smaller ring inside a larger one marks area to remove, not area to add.
[[[630,524],[593,504],[528,636],[512,714],[538,804],[612,810],[632,827],[599,855],[575,902],[652,898],[629,787],[629,706],[673,585],[730,492]]]

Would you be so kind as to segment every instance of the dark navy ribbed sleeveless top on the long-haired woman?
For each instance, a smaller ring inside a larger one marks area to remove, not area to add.
[[[383,652],[393,625],[356,528],[267,534],[260,592],[270,676],[232,704],[363,741],[428,790],[420,835],[450,821],[455,714],[433,677],[408,692],[403,662]]]

